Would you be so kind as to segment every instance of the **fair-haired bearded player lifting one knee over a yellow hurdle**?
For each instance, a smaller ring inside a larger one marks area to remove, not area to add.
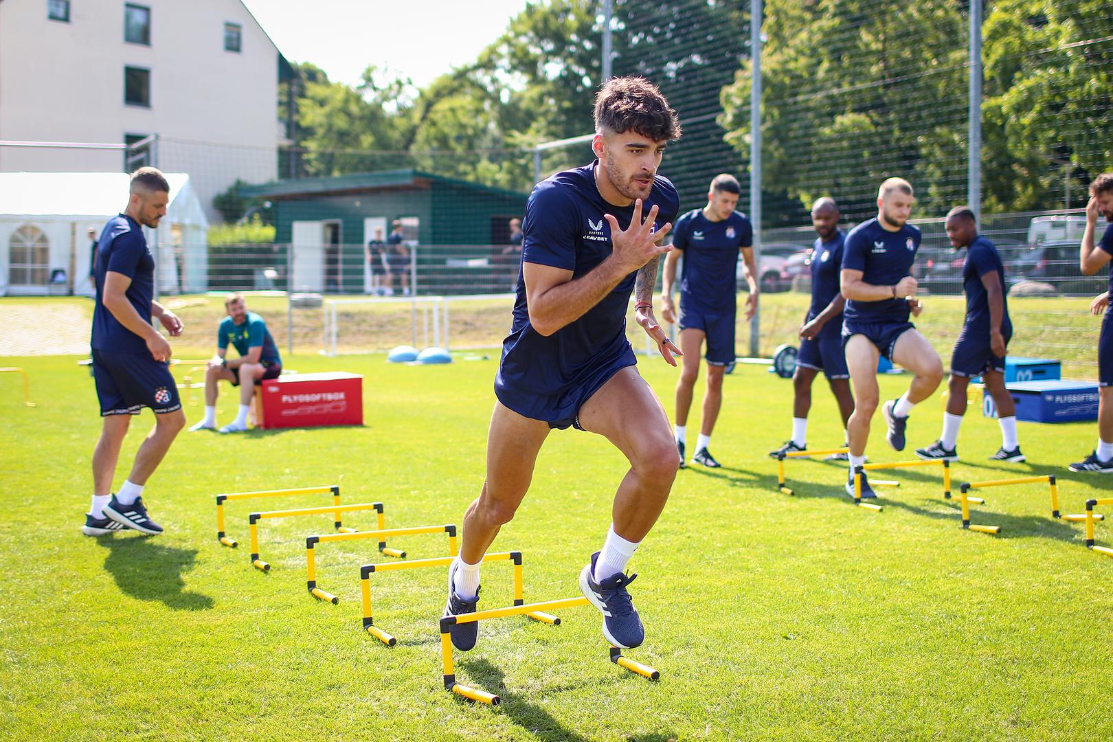
[[[885,438],[895,451],[904,451],[905,427],[913,405],[932,396],[943,380],[943,363],[935,348],[908,321],[919,315],[917,283],[912,264],[919,249],[919,229],[908,224],[912,186],[888,178],[877,191],[877,216],[846,236],[843,248],[841,287],[843,347],[854,386],[854,414],[847,424],[850,475],[846,491],[854,495],[854,469],[866,462],[869,422],[877,410],[877,360],[889,358],[913,373],[912,385],[881,412],[888,424]],[[875,497],[865,474],[861,496]]]

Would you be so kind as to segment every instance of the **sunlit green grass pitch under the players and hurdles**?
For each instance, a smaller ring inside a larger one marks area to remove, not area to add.
[[[305,590],[304,538],[332,518],[264,522],[274,568],[248,565],[247,513],[327,498],[228,505],[238,550],[215,538],[214,495],[339,484],[346,502],[383,501],[387,525],[459,523],[484,473],[493,360],[407,367],[382,356],[295,356],[301,372],[364,375],[363,428],[183,434],[145,499],[166,534],[95,540],[79,526],[99,431],[92,380],[75,357],[0,358],[31,374],[36,408],[0,375],[7,574],[0,607],[0,729],[7,739],[1109,739],[1106,629],[1113,561],[1087,551],[1082,527],[1053,521],[1046,487],[987,491],[975,522],[927,471],[881,513],[853,507],[841,466],[789,464],[796,488],[776,491],[766,452],[787,435],[790,385],[761,368],[727,378],[712,449],[719,471],[680,472],[657,528],[636,555],[631,592],[647,642],[628,655],[661,671],[650,683],[607,659],[600,616],[561,613],[552,627],[486,622],[457,654],[457,676],[500,693],[472,705],[441,684],[436,619],[442,570],[376,575],[376,624],[359,627],[358,566],[371,544],[318,548]],[[676,372],[640,368],[671,414]],[[896,396],[906,377],[887,376]],[[195,397],[196,398],[196,397]],[[809,443],[841,443],[833,400],[817,387]],[[699,395],[697,397],[697,404]],[[221,396],[220,419],[234,400]],[[190,422],[199,406],[187,408]],[[909,425],[910,443],[938,435],[938,396]],[[698,418],[698,415],[697,415]],[[125,447],[117,484],[151,424]],[[695,424],[695,419],[693,419]],[[1093,447],[1094,424],[1020,425],[1030,464],[989,465],[994,421],[971,407],[956,481],[1054,472],[1064,512],[1109,495],[1109,482],[1070,474]],[[895,461],[875,426],[873,461]],[[626,471],[601,438],[555,433],[533,487],[494,544],[522,550],[525,597],[578,594],[577,575],[602,542]],[[372,527],[372,514],[346,523]],[[1100,543],[1113,541],[1099,526]],[[445,553],[443,536],[393,544],[411,558]],[[484,567],[482,606],[510,604],[510,570]]]

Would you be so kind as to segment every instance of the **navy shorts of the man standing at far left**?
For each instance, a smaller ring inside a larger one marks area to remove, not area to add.
[[[148,353],[93,348],[92,378],[97,382],[101,417],[138,415],[144,407],[150,407],[157,415],[181,409],[178,385],[169,367]]]

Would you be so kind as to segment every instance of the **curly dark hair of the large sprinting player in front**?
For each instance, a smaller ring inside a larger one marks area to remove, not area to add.
[[[653,141],[680,138],[680,120],[656,85],[643,77],[611,78],[595,93],[595,131],[636,131]]]

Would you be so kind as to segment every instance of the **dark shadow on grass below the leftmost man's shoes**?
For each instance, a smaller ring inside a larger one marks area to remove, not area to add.
[[[140,601],[161,601],[175,611],[207,611],[213,598],[183,591],[181,575],[197,561],[196,548],[164,546],[152,538],[120,536],[100,538],[98,545],[108,550],[105,570],[126,595]]]

